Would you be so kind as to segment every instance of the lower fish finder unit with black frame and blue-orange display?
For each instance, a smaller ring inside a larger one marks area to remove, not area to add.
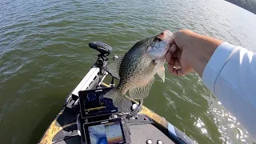
[[[83,124],[83,131],[88,144],[123,144],[126,141],[125,122],[121,118]]]

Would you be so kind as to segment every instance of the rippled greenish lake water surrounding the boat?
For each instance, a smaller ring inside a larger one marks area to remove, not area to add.
[[[94,63],[90,41],[120,54],[185,28],[256,51],[256,16],[222,0],[0,1],[0,143],[38,142]],[[253,142],[197,74],[166,72],[145,105],[198,143]]]

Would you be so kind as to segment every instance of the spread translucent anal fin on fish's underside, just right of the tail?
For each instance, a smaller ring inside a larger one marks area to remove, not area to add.
[[[139,86],[129,90],[130,98],[144,99],[150,94],[150,88],[154,83],[154,76],[145,86]]]

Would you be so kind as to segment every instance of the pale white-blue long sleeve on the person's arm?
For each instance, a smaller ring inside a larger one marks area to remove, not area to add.
[[[202,81],[256,139],[256,54],[223,42],[207,63]]]

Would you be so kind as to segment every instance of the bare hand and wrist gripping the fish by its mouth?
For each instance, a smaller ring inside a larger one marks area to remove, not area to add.
[[[207,62],[222,41],[191,30],[179,30],[172,43],[166,54],[170,73],[182,76],[195,70],[202,77]]]

